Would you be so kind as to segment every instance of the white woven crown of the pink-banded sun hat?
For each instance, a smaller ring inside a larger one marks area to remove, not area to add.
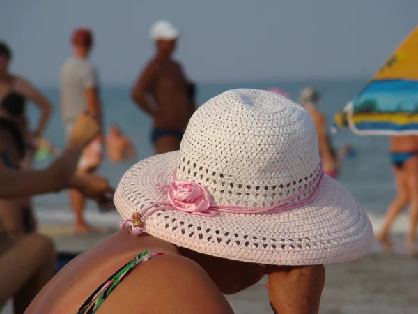
[[[205,186],[217,204],[265,207],[305,190],[318,171],[310,114],[270,91],[236,89],[196,110],[180,146],[176,175]]]

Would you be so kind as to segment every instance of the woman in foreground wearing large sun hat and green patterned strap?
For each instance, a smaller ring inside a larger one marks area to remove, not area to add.
[[[231,314],[223,294],[265,274],[274,313],[316,314],[323,264],[373,244],[364,210],[323,173],[309,113],[268,91],[208,100],[180,151],[134,165],[114,201],[122,230],[63,267],[26,314]]]

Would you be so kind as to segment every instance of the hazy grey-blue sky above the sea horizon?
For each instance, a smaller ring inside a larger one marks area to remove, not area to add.
[[[153,54],[149,28],[182,31],[197,82],[369,77],[418,24],[417,0],[0,0],[13,73],[54,86],[70,33],[91,27],[104,84],[130,84]]]

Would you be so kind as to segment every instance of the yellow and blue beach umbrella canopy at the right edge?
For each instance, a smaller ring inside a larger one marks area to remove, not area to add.
[[[418,26],[334,117],[334,130],[358,135],[418,135]]]

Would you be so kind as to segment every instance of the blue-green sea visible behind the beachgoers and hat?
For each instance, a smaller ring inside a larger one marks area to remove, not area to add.
[[[362,89],[366,79],[362,80],[313,80],[313,81],[255,81],[230,82],[224,84],[198,84],[196,100],[202,105],[206,100],[217,96],[223,91],[237,88],[268,89],[278,87],[291,94],[295,100],[297,94],[307,85],[316,87],[321,94],[320,110],[327,116],[327,124],[332,126],[334,114],[341,110]],[[100,98],[104,112],[104,126],[118,124],[122,132],[132,141],[137,149],[137,159],[142,160],[154,154],[150,144],[151,121],[130,100],[130,86],[102,87]],[[59,117],[58,89],[49,87],[42,92],[54,105],[52,119],[49,121],[45,137],[57,148],[65,146],[63,124]],[[29,105],[29,117],[33,125],[38,119],[38,111]],[[387,137],[383,136],[357,136],[350,130],[341,130],[336,135],[330,135],[336,149],[344,144],[350,144],[357,151],[355,158],[342,160],[342,172],[338,181],[352,193],[368,212],[373,227],[376,228],[382,221],[387,204],[394,197],[394,182],[390,169]],[[35,167],[47,167],[51,160],[36,160]],[[99,174],[107,177],[113,186],[123,174],[137,160],[124,163],[104,163],[98,170]],[[68,204],[67,193],[54,193],[34,197],[36,216],[39,223],[72,223],[72,212]],[[405,214],[394,225],[396,232],[405,232],[408,220]],[[117,212],[101,214],[94,202],[86,205],[86,219],[91,225],[116,227],[120,220]]]

